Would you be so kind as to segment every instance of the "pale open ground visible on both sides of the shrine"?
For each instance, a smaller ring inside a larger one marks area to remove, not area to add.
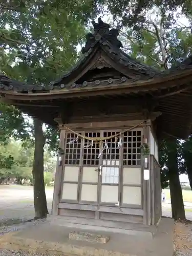
[[[168,190],[165,191],[166,202],[162,203],[163,216],[171,217],[171,205]],[[33,187],[30,186],[17,186],[17,185],[0,185],[0,236],[4,232],[25,228],[19,225],[13,226],[13,224],[20,223],[20,220],[29,220],[34,218],[33,207]],[[46,196],[49,212],[51,212],[53,187],[46,188]],[[192,221],[192,191],[183,190],[183,198],[186,209],[186,218]],[[31,223],[32,224],[32,223]],[[30,223],[27,225],[31,225]],[[3,227],[4,225],[10,227]],[[33,225],[33,224],[32,224]],[[2,227],[1,227],[2,226]],[[176,223],[175,225],[175,237],[174,243],[177,256],[192,256],[192,224],[191,223]],[[182,241],[182,242],[181,242]],[[0,255],[28,255],[24,252],[2,252]],[[40,254],[33,254],[40,255]],[[42,256],[42,255],[41,255]]]

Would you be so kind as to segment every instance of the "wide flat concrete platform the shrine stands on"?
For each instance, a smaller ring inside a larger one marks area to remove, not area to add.
[[[110,237],[106,244],[69,240],[69,233],[74,231],[85,232],[44,223],[0,237],[0,248],[65,256],[173,256],[171,219],[162,219],[153,240],[113,232],[101,232],[103,237]]]

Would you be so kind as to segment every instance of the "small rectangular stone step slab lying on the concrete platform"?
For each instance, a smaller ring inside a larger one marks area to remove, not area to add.
[[[110,237],[102,236],[102,234],[81,231],[70,232],[68,238],[70,240],[80,240],[100,244],[106,244],[110,240]]]

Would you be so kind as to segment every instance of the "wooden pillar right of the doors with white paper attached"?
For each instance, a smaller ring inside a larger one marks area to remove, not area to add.
[[[150,126],[148,125],[143,127],[143,139],[150,148]],[[151,174],[150,154],[143,155],[143,224],[151,225],[151,175],[146,180],[145,170],[149,170]]]

